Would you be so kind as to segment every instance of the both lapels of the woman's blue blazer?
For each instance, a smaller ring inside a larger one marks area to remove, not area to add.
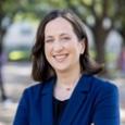
[[[71,125],[74,116],[76,115],[78,109],[83,104],[83,101],[86,100],[87,93],[90,89],[90,77],[89,75],[83,75],[76,88],[74,89],[72,97],[63,112],[60,125]],[[53,87],[55,78],[51,78],[42,88],[41,97],[41,123],[42,125],[53,125]],[[73,110],[74,109],[74,110]],[[67,117],[70,117],[67,120]]]

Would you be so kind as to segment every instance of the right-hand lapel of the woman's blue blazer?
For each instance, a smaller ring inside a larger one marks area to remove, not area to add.
[[[77,114],[80,105],[86,100],[90,88],[88,75],[83,75],[79,79],[61,118],[60,125],[72,125],[72,121]]]

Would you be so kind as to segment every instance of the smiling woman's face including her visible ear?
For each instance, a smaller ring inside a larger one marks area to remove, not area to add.
[[[79,67],[79,55],[84,52],[72,24],[63,17],[50,21],[45,28],[45,54],[55,72]]]

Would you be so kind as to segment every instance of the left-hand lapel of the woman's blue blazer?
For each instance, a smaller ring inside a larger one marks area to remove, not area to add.
[[[46,83],[41,92],[41,125],[53,125],[52,89],[54,79]]]

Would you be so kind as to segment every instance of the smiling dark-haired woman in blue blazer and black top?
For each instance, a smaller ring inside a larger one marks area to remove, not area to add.
[[[120,125],[117,88],[93,75],[82,21],[68,10],[50,12],[33,47],[33,78],[14,125]]]

